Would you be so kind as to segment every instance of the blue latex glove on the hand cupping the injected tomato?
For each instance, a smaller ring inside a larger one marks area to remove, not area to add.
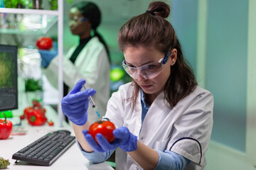
[[[137,149],[137,136],[129,132],[126,127],[117,128],[113,131],[114,141],[108,142],[102,134],[96,135],[97,142],[93,139],[92,135],[88,133],[88,130],[82,130],[85,140],[89,143],[90,147],[97,152],[107,152],[120,147],[124,152],[132,152]]]

